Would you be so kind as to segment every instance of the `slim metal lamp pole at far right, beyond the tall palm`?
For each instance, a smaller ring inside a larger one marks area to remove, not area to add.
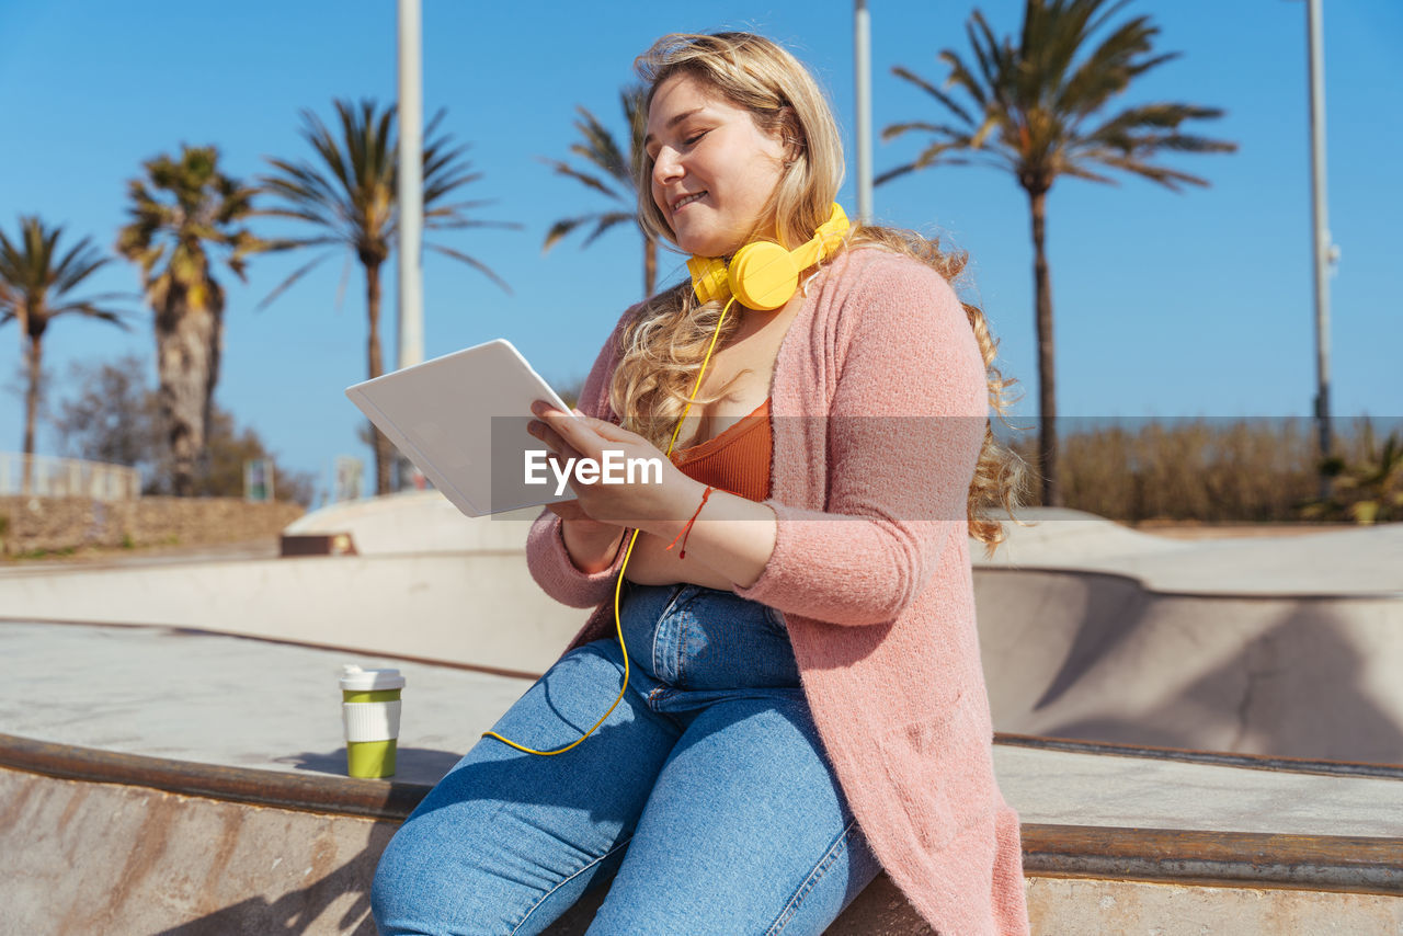
[[[1310,45],[1310,240],[1315,254],[1316,400],[1320,457],[1330,457],[1330,220],[1324,196],[1324,49],[1320,0],[1306,0],[1306,35]],[[1329,480],[1320,477],[1320,497]]]

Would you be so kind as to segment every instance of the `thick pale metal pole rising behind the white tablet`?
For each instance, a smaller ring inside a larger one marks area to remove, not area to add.
[[[419,0],[400,0],[400,368],[424,361],[424,91]]]

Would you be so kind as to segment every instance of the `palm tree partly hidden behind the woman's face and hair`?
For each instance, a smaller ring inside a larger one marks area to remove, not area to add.
[[[595,168],[603,173],[603,177],[592,175],[588,171],[579,171],[568,163],[561,163],[560,160],[542,159],[542,161],[553,167],[558,175],[578,180],[596,192],[603,192],[609,198],[623,202],[623,208],[591,212],[575,218],[563,218],[556,222],[550,226],[550,230],[546,232],[546,243],[542,246],[542,253],[550,250],[556,246],[556,241],[584,225],[592,223],[595,226],[595,229],[589,232],[589,236],[585,237],[585,243],[581,244],[581,247],[588,247],[595,243],[595,239],[615,225],[633,222],[633,225],[638,229],[638,233],[643,236],[643,295],[647,299],[652,295],[652,289],[658,279],[658,244],[645,230],[643,230],[643,226],[638,225],[637,180],[643,166],[643,133],[647,129],[647,114],[643,112],[643,101],[645,95],[647,90],[638,84],[627,87],[619,94],[619,100],[623,104],[624,123],[629,125],[630,131],[627,159],[619,147],[619,143],[615,142],[613,133],[610,133],[593,114],[586,111],[584,107],[575,108],[579,111],[579,116],[582,118],[575,121],[575,129],[579,131],[579,136],[584,142],[572,143],[570,146],[570,152],[593,164]],[[613,180],[617,189],[610,188],[605,178]]]

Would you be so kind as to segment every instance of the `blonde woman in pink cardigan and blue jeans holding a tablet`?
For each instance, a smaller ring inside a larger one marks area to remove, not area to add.
[[[847,229],[836,125],[779,46],[671,35],[637,67],[640,216],[693,282],[532,431],[662,477],[577,481],[532,526],[535,580],[595,613],[391,841],[376,921],[539,933],[607,884],[591,933],[821,933],[885,870],[941,933],[1024,933],[968,554],[1014,463],[962,264]],[[801,289],[756,293],[756,241],[808,244]]]

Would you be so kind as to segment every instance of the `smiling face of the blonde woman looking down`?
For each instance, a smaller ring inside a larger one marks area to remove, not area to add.
[[[779,133],[755,125],[690,74],[658,86],[644,147],[654,160],[652,201],[678,246],[725,257],[745,246],[784,167]]]

